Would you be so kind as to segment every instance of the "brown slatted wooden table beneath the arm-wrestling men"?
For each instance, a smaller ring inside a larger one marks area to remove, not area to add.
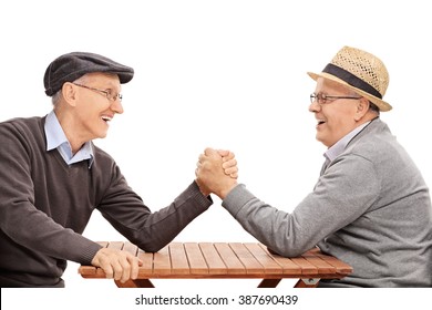
[[[138,278],[117,287],[153,288],[150,279],[263,279],[259,288],[274,288],[284,278],[299,279],[295,287],[317,287],[320,279],[340,279],[352,267],[318,249],[300,257],[270,254],[257,242],[172,242],[158,252],[144,252],[131,242],[100,242],[132,252],[143,260]],[[81,266],[83,278],[105,278],[101,268]]]

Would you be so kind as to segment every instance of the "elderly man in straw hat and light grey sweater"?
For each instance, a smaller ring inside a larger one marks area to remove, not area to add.
[[[344,46],[316,82],[309,111],[328,147],[313,192],[290,214],[225,176],[223,159],[199,156],[198,185],[223,199],[240,225],[272,251],[294,257],[318,246],[353,267],[327,287],[431,287],[432,215],[420,170],[380,112],[389,74],[374,55]],[[287,189],[289,194],[289,188]]]

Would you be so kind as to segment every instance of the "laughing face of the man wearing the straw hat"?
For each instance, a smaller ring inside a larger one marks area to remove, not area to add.
[[[328,96],[359,97],[347,86],[322,78],[317,80],[315,93]],[[317,120],[317,140],[327,147],[331,147],[357,126],[374,117],[368,110],[369,102],[364,97],[359,100],[331,99],[327,100],[326,103],[312,102],[309,111],[315,114]]]

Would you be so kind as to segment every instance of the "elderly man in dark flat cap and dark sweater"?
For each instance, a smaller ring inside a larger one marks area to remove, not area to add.
[[[157,251],[210,206],[193,182],[152,214],[114,159],[92,143],[123,113],[121,84],[133,74],[99,54],[64,54],[44,75],[53,111],[0,123],[0,287],[63,287],[68,260],[101,267],[123,282],[135,279],[136,257],[81,235],[94,209],[130,241]]]

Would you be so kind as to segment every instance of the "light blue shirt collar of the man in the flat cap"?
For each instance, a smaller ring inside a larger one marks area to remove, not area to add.
[[[51,111],[51,113],[47,115],[45,136],[47,151],[56,148],[68,165],[72,165],[82,161],[89,161],[89,169],[91,168],[94,159],[92,144],[86,142],[80,148],[80,151],[73,155],[71,144],[69,143],[54,111]]]

